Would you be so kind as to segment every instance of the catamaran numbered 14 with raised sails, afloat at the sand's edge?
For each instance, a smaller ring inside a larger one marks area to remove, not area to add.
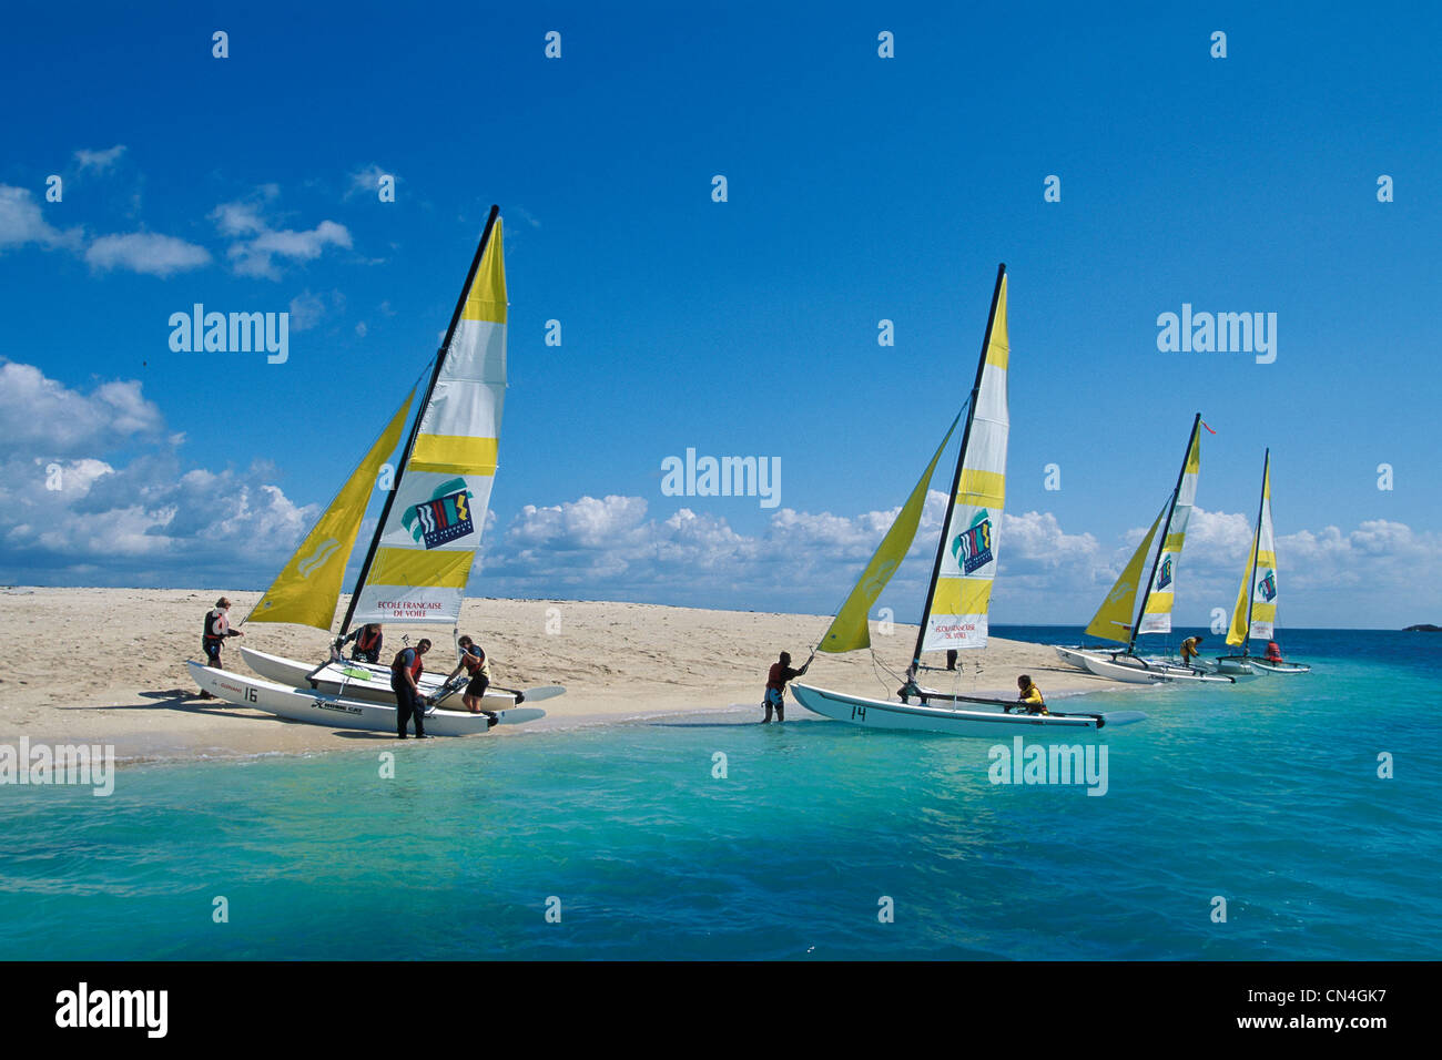
[[[796,701],[806,710],[867,728],[923,730],[952,736],[996,737],[1027,730],[1097,730],[1141,721],[1138,711],[1110,714],[1014,714],[1014,699],[956,695],[917,684],[924,652],[981,649],[986,645],[986,616],[1001,538],[1007,489],[1007,366],[1011,355],[1007,333],[1007,267],[996,270],[991,313],[982,339],[976,382],[966,405],[966,425],[952,479],[950,505],[937,541],[932,581],[921,607],[921,627],[898,701],[835,692],[793,684]],[[871,646],[867,616],[916,538],[932,474],[950,441],[960,415],[952,421],[920,482],[901,506],[895,522],[877,547],[851,594],[836,611],[816,646],[819,652],[854,652]],[[917,702],[911,702],[911,699]],[[949,705],[939,705],[949,704]]]

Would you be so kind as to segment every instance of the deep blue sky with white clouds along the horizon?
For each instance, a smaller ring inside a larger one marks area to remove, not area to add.
[[[473,594],[833,607],[965,399],[1007,261],[1024,522],[994,620],[1089,617],[1201,411],[1182,622],[1231,604],[1266,446],[1283,624],[1439,622],[1439,30],[1400,4],[16,10],[0,578],[262,587],[497,202],[510,389]],[[288,361],[172,352],[196,301],[290,312]],[[1276,313],[1275,363],[1159,352],[1182,303]],[[663,496],[688,447],[779,457],[780,509]]]

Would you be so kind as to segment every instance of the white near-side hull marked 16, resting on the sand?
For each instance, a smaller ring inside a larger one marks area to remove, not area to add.
[[[234,702],[236,707],[254,707],[281,718],[309,721],[313,725],[329,728],[395,733],[397,708],[394,705],[286,688],[232,671],[212,669],[199,662],[187,662],[186,665],[202,689],[226,702]],[[487,697],[487,702],[489,699],[490,697]],[[510,698],[510,702],[513,704],[515,699]],[[538,707],[512,707],[496,711],[496,724],[513,725],[542,717],[545,717],[545,711]],[[435,710],[425,715],[424,725],[428,736],[473,736],[489,731],[490,718],[486,714],[470,714],[469,711]],[[414,731],[414,723],[407,728]]]

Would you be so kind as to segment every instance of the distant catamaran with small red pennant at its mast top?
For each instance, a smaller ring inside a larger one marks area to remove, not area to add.
[[[1099,678],[1128,681],[1132,684],[1158,684],[1161,681],[1193,681],[1200,684],[1231,684],[1233,675],[1213,673],[1195,666],[1184,666],[1168,659],[1149,659],[1136,653],[1136,637],[1142,633],[1171,633],[1172,604],[1177,591],[1177,568],[1181,549],[1187,542],[1187,521],[1197,500],[1197,477],[1201,473],[1201,412],[1191,423],[1187,438],[1187,453],[1177,474],[1177,486],[1162,505],[1152,528],[1146,531],[1142,544],[1136,547],[1131,561],[1122,570],[1112,591],[1106,594],[1092,622],[1087,636],[1126,645],[1125,650],[1094,648],[1057,646],[1063,662],[1090,671]],[[1208,430],[1211,430],[1208,427]],[[1152,542],[1158,539],[1155,555]],[[1151,557],[1151,574],[1146,588],[1136,604],[1141,574]]]

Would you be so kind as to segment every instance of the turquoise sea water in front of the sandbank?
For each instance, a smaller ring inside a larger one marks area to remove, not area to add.
[[[1086,697],[1149,714],[1103,798],[751,715],[0,787],[0,959],[1436,958],[1442,635],[1282,643],[1317,672]]]

